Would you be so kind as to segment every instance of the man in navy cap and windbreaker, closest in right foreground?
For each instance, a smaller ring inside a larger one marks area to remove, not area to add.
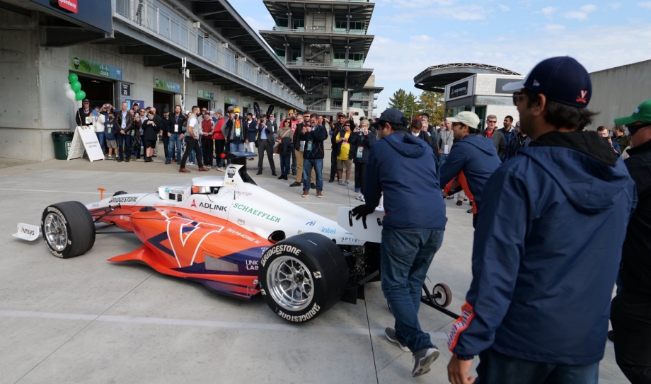
[[[484,187],[448,377],[470,383],[478,354],[479,383],[596,384],[635,183],[582,130],[592,83],[575,59],[543,60],[503,89],[534,141]]]

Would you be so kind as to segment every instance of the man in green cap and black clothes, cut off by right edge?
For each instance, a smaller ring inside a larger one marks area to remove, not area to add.
[[[638,192],[622,249],[622,289],[611,306],[615,358],[631,383],[651,383],[651,100],[615,124],[628,128],[633,148],[625,163]]]

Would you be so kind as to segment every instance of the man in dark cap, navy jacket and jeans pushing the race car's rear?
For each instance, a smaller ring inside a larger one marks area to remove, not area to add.
[[[373,124],[378,140],[369,153],[366,204],[356,206],[352,213],[358,220],[371,214],[384,193],[382,292],[396,319],[394,328],[386,328],[384,335],[403,351],[413,353],[412,375],[421,376],[439,356],[430,334],[420,330],[418,308],[422,284],[441,247],[447,218],[443,199],[422,202],[422,196],[441,190],[437,161],[425,141],[407,132],[408,124],[403,112],[393,109],[382,112]]]

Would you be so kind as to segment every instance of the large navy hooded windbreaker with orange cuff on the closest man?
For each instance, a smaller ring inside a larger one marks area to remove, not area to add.
[[[612,156],[592,134],[573,137]],[[484,187],[473,281],[448,347],[462,359],[492,347],[530,361],[595,363],[604,356],[635,185],[621,159],[606,165],[534,143]]]

